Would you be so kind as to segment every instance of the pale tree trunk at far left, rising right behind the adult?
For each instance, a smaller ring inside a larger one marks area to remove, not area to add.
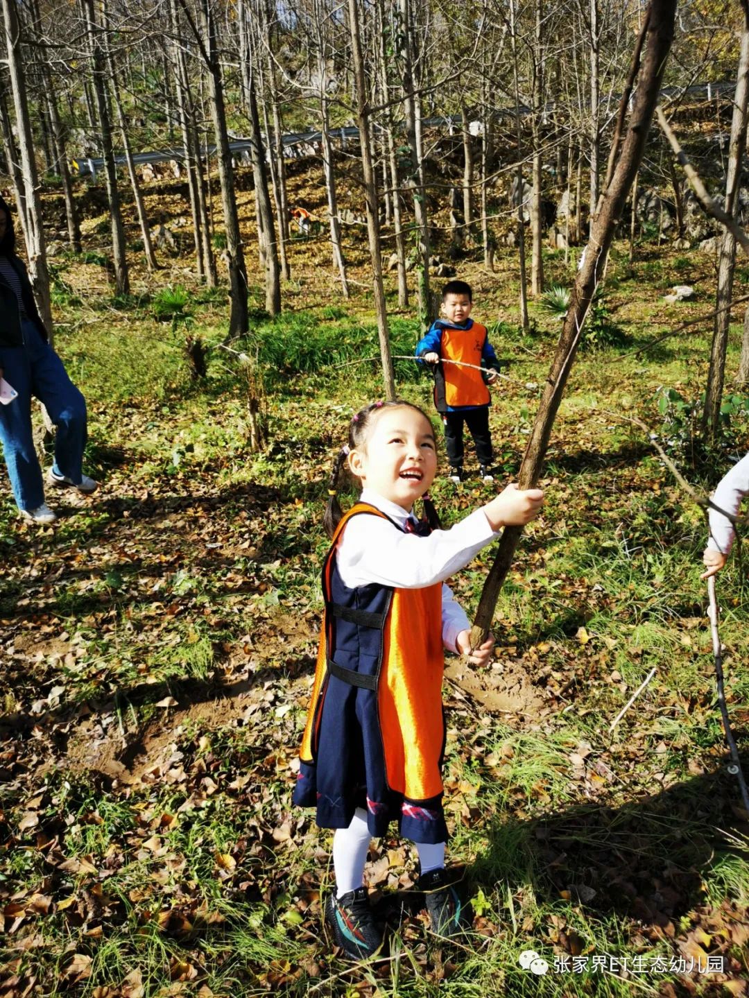
[[[39,308],[39,314],[50,336],[52,336],[52,307],[50,304],[50,276],[47,269],[47,247],[44,240],[39,179],[34,159],[34,135],[31,130],[28,96],[23,71],[21,30],[18,17],[16,16],[15,0],[2,0],[2,12],[8,53],[8,73],[10,74],[21,154],[23,193],[26,202],[24,236],[26,237],[29,277],[34,287],[34,297]]]

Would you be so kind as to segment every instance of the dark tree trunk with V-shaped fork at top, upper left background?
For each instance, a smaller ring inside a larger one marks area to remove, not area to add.
[[[195,41],[200,48],[203,63],[207,69],[210,117],[218,159],[218,179],[221,189],[221,209],[226,231],[226,256],[228,264],[229,294],[229,336],[243,336],[249,327],[247,311],[247,272],[244,268],[244,252],[239,232],[239,216],[234,197],[234,172],[231,167],[231,153],[228,148],[226,131],[226,110],[223,102],[223,78],[218,61],[215,25],[209,0],[198,0],[198,16],[201,30],[192,21],[187,8],[187,0],[179,0]]]

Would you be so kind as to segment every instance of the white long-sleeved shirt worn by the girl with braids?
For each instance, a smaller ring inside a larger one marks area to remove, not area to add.
[[[359,502],[374,506],[403,527],[416,522],[397,503],[364,489]],[[405,534],[388,520],[355,516],[346,524],[336,549],[341,581],[349,589],[377,583],[399,589],[423,589],[444,583],[499,534],[495,533],[483,510],[476,510],[450,530],[433,530],[429,537]],[[449,586],[442,587],[442,641],[450,652],[457,651],[461,631],[471,627],[465,611],[456,603]]]

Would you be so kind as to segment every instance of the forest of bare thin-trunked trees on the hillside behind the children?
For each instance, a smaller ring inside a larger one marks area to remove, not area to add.
[[[649,10],[633,0],[2,0],[3,172],[42,314],[51,325],[46,241],[81,249],[75,191],[92,178],[76,174],[89,173],[81,164],[90,158],[101,161],[106,185],[116,291],[128,292],[134,260],[158,268],[160,220],[147,217],[145,176],[134,156],[159,150],[187,179],[197,277],[228,284],[229,334],[248,328],[248,253],[259,258],[266,310],[279,312],[283,282],[293,276],[288,158],[300,150],[284,136],[314,132],[301,152],[323,167],[321,222],[344,296],[350,278],[337,185],[358,160],[356,216],[366,221],[389,392],[388,267],[397,274],[400,306],[415,293],[426,321],[435,308],[430,277],[440,272],[435,247],[452,264],[472,254],[490,270],[498,245],[514,247],[520,322],[527,325],[529,297],[545,289],[545,241],[565,251],[584,244],[600,209],[617,152],[612,137],[621,134],[620,98]],[[720,169],[716,174],[711,157],[709,179],[734,217],[744,191],[744,22],[738,2],[678,5],[661,99],[677,131],[687,105],[701,104],[719,129],[722,115]],[[629,83],[636,94],[637,80]],[[355,126],[358,140],[336,138],[342,126]],[[232,156],[239,138],[248,141],[246,153]],[[247,171],[254,246],[241,232],[235,198],[237,172]],[[211,174],[217,198],[210,196]],[[44,217],[45,184],[64,194],[64,219]],[[669,187],[670,198],[653,195]],[[658,239],[664,212],[669,223],[675,217],[667,238],[684,238],[686,186],[657,130],[633,189],[633,198],[645,202],[641,225],[652,222],[655,198]],[[129,231],[138,233],[138,251],[129,249]],[[717,288],[723,316],[735,252],[735,240],[725,237]],[[708,427],[724,377],[725,323],[716,322]]]

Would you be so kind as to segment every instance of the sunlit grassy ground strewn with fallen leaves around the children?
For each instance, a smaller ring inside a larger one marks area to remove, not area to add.
[[[292,260],[289,293],[305,308],[326,298],[323,253],[300,244]],[[632,330],[665,321],[668,263],[655,274],[650,262],[633,281],[609,268]],[[510,321],[510,257],[498,276],[466,273],[482,314]],[[221,307],[195,310],[208,340]],[[363,299],[342,311],[371,320]],[[448,663],[450,855],[472,935],[451,948],[430,938],[413,849],[391,836],[368,867],[390,957],[351,968],[320,932],[330,836],[289,799],[319,623],[320,496],[350,412],[379,385],[368,368],[293,378],[271,395],[271,443],[252,456],[241,379],[218,351],[196,389],[180,330],[160,330],[165,369],[127,381],[138,371],[109,351],[126,327],[156,348],[153,322],[127,309],[88,317],[60,348],[87,377],[105,486],[62,496],[54,530],[16,523],[7,494],[2,514],[0,994],[746,993],[747,815],[713,703],[703,525],[646,442],[591,409],[652,422],[659,384],[697,394],[704,343],[661,348],[657,363],[580,358],[545,514],[498,606],[495,660],[483,675]],[[554,337],[496,338],[520,382],[493,408],[501,479],[536,407],[522,384],[544,377]],[[403,390],[429,404],[426,383]],[[492,494],[436,491],[449,523]],[[455,580],[469,609],[490,560]],[[745,749],[743,583],[732,570],[720,588]],[[528,949],[547,975],[521,967]],[[708,957],[722,973],[700,972]],[[650,969],[633,970],[637,958]]]

